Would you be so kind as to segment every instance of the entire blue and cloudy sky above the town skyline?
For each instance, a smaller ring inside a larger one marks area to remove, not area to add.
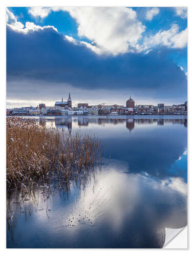
[[[187,100],[187,8],[8,7],[7,108]]]

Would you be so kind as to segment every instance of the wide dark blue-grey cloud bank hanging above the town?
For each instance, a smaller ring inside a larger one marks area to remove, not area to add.
[[[119,90],[182,102],[187,94],[186,75],[168,54],[170,50],[160,49],[145,55],[97,55],[52,28],[24,34],[7,27],[7,96],[48,94],[50,88],[60,91],[63,84],[70,84],[74,90]]]

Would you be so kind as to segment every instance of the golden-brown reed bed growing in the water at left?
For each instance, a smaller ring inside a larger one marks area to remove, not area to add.
[[[35,119],[7,117],[7,188],[26,188],[50,180],[81,185],[100,164],[101,144],[89,134],[46,127]]]

